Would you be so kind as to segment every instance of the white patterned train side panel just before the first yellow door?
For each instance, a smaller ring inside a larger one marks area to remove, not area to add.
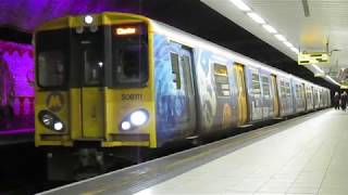
[[[237,126],[237,90],[233,61],[211,51],[195,49],[199,133]]]

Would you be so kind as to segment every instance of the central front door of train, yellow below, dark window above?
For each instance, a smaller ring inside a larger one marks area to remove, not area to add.
[[[78,35],[75,43],[76,64],[82,72],[80,139],[100,140],[104,130],[103,38],[101,34]]]

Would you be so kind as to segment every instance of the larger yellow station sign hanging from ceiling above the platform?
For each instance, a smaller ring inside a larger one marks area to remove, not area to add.
[[[330,56],[325,52],[301,52],[297,56],[299,65],[330,64]]]

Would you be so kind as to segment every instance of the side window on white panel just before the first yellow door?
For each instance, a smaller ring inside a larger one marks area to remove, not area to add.
[[[214,64],[214,77],[217,96],[229,96],[229,82],[227,67],[221,64]]]

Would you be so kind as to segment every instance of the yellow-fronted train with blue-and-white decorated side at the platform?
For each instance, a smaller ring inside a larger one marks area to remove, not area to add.
[[[142,15],[65,16],[34,38],[35,144],[54,180],[331,106],[330,89]]]

